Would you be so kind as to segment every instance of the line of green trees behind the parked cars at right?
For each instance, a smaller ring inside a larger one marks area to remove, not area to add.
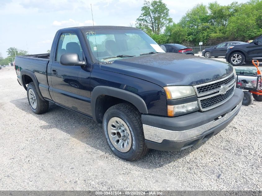
[[[197,4],[178,23],[169,17],[169,9],[162,0],[144,1],[141,12],[136,27],[158,44],[215,45],[223,41],[253,40],[262,34],[261,0],[225,6],[216,1],[207,6]]]

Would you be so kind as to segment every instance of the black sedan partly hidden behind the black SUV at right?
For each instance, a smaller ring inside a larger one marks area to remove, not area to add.
[[[231,45],[235,45],[235,44],[242,44],[245,42],[242,41],[226,41],[223,43],[220,43],[214,47],[211,48],[206,48],[204,50],[202,50],[202,56],[206,57],[206,58],[211,58],[213,57],[219,57],[219,56],[225,56],[226,52],[227,52],[227,48]]]

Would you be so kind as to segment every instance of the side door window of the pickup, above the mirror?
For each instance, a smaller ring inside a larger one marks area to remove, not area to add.
[[[65,53],[77,53],[79,59],[82,59],[82,47],[75,33],[62,33],[60,35],[55,61],[59,62],[61,55]]]

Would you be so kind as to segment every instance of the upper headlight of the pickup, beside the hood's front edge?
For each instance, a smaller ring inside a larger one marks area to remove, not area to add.
[[[193,86],[165,86],[164,90],[168,100],[189,97],[196,94]]]

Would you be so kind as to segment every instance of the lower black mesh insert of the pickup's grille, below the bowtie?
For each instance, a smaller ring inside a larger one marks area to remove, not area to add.
[[[216,95],[216,96],[211,97],[211,98],[206,98],[206,99],[200,100],[202,109],[206,109],[206,108],[212,107],[212,106],[214,106],[218,103],[223,102],[224,100],[229,98],[233,94],[233,92],[234,92],[234,87],[229,89],[225,94],[220,94],[220,95]]]

